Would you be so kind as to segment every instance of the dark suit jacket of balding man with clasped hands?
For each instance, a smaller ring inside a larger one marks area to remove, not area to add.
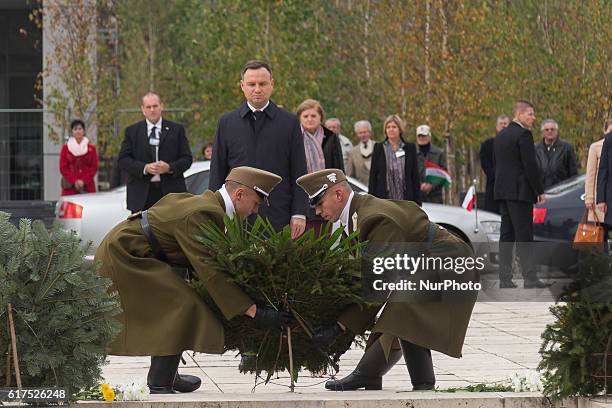
[[[191,166],[193,158],[185,128],[175,122],[162,118],[159,141],[159,160],[170,165],[170,172],[161,175],[162,193],[182,193],[187,191],[183,173]],[[144,166],[155,161],[149,146],[147,122],[141,121],[125,129],[125,137],[119,152],[119,167],[128,174],[127,207],[131,211],[141,211],[149,194],[150,174],[143,174]]]

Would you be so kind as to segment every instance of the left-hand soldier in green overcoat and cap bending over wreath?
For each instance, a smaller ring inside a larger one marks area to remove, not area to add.
[[[183,351],[224,351],[221,321],[177,267],[197,274],[226,319],[244,314],[260,327],[291,320],[285,312],[257,307],[223,271],[207,265],[197,239],[202,224],[223,228],[225,215],[256,213],[280,181],[267,171],[234,168],[217,192],[168,194],[113,228],[98,247],[100,274],[112,279],[123,310],[123,328],[109,353],[152,356],[147,376],[151,393],[189,392],[200,386],[199,378],[177,374]]]

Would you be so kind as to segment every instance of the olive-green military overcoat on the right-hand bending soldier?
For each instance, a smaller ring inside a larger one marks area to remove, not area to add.
[[[385,200],[355,194],[350,205],[348,227],[351,233],[358,230],[360,242],[417,243],[426,241],[429,219],[412,201]],[[473,251],[446,229],[436,226],[429,256],[473,257]],[[454,276],[446,277],[458,278],[463,282],[479,281],[476,270],[466,271],[460,277],[454,271],[450,274]],[[440,278],[444,276],[440,275]],[[477,293],[462,293],[459,298],[445,295],[444,291],[438,295],[429,300],[387,302],[373,327],[374,318],[382,305],[350,307],[338,321],[355,333],[371,328],[372,336],[368,344],[380,337],[386,352],[392,341],[399,337],[452,357],[461,357]]]

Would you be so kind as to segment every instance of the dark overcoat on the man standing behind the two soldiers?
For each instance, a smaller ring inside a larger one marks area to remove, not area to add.
[[[272,101],[264,112],[264,122],[257,134],[246,102],[221,116],[210,163],[209,188],[218,190],[229,171],[238,166],[278,174],[283,180],[270,194],[270,206],[261,206],[259,213],[279,230],[289,224],[292,215],[305,216],[308,211],[306,193],[295,183],[306,174],[304,138],[293,113]]]

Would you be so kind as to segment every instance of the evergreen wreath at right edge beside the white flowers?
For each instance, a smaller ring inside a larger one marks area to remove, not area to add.
[[[555,321],[546,326],[539,369],[544,394],[555,399],[596,395],[612,389],[612,274],[610,257],[601,250],[581,253],[578,274],[550,308]],[[605,358],[607,357],[607,369]]]

